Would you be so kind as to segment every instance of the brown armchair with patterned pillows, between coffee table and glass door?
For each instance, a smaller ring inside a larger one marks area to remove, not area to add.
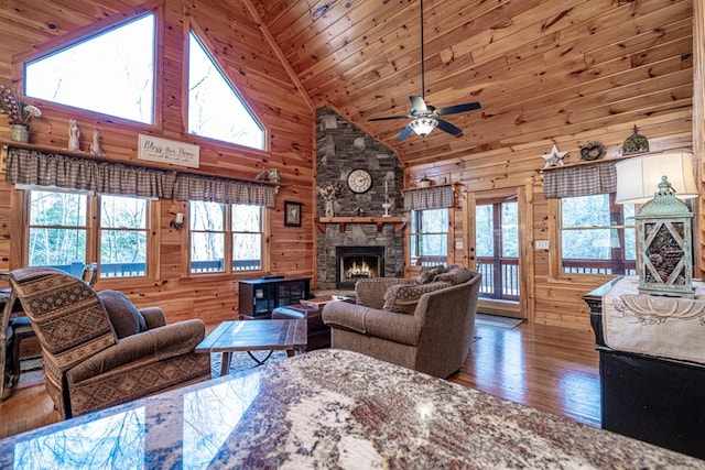
[[[452,265],[424,267],[416,280],[359,281],[357,304],[333,302],[323,309],[330,346],[446,378],[473,345],[480,278]]]

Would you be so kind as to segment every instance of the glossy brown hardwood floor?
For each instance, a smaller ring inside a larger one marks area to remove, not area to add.
[[[522,324],[513,329],[479,325],[477,336],[452,382],[599,427],[593,334]],[[0,438],[59,419],[42,382],[19,386],[0,403]]]

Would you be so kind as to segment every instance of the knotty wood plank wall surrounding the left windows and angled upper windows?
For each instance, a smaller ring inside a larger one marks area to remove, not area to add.
[[[165,28],[159,26],[162,73],[158,85],[160,120],[156,125],[96,118],[79,110],[37,102],[44,117],[35,120],[31,143],[47,150],[65,149],[70,118],[77,120],[82,130],[82,149],[88,149],[93,130],[98,129],[102,135],[102,149],[118,162],[137,163],[138,134],[148,133],[199,145],[199,173],[253,179],[262,168],[281,170],[283,186],[276,195],[276,207],[268,210],[270,264],[265,272],[313,276],[314,110],[307,97],[302,96],[292,83],[276,51],[272,50],[243,3],[229,2],[226,6],[216,0],[164,0],[143,7],[141,1],[122,1],[113,9],[110,4],[86,2],[85,11],[76,15],[62,15],[50,1],[31,2],[31,10],[24,2],[14,3],[14,8],[2,8],[0,19],[0,83],[12,80],[18,85],[23,58],[51,51],[65,37],[79,37],[155,7],[165,24]],[[50,24],[54,26],[47,26]],[[186,74],[183,65],[189,28],[202,34],[208,51],[263,123],[268,135],[267,151],[225,145],[194,138],[184,131]],[[96,79],[100,79],[99,70]],[[8,134],[7,121],[0,119],[0,136],[7,140]],[[0,270],[14,269],[22,263],[22,228],[17,226],[22,210],[19,196],[19,192],[9,184],[0,182]],[[284,200],[303,204],[302,228],[284,227]],[[175,212],[187,212],[187,206],[175,200],[162,200],[159,206],[159,222],[154,230],[161,242],[158,256],[160,277],[151,282],[99,281],[96,288],[120,288],[139,306],[159,305],[165,309],[170,323],[194,317],[208,324],[234,319],[238,311],[237,280],[253,275],[189,277],[186,274],[187,231],[174,230],[169,225]]]

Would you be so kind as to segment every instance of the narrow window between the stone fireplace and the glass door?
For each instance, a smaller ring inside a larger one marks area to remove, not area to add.
[[[412,210],[410,233],[412,266],[448,261],[448,209]]]

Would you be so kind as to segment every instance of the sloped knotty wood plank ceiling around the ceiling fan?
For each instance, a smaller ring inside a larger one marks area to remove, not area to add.
[[[425,0],[426,102],[482,109],[447,117],[460,136],[400,142],[406,120],[368,119],[406,114],[421,94],[419,0],[251,1],[313,103],[406,165],[549,150],[558,135],[574,146],[595,129],[692,106],[691,1]]]

